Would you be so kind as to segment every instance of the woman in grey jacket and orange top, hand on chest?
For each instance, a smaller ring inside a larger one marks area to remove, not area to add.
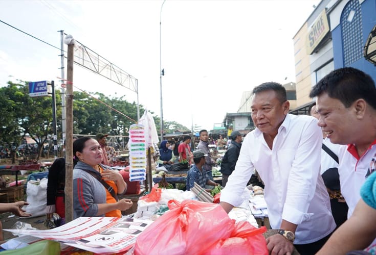
[[[98,141],[81,137],[73,143],[78,161],[73,169],[73,218],[81,216],[121,217],[121,211],[132,206],[130,199],[118,200],[127,185],[117,170],[102,165]]]

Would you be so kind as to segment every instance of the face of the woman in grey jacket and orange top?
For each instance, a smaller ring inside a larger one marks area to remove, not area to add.
[[[78,157],[80,161],[94,167],[103,160],[101,146],[97,140],[89,139],[85,142],[82,152],[76,152],[76,157]]]

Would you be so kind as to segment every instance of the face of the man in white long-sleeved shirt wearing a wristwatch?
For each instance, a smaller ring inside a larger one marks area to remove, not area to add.
[[[253,123],[263,134],[274,137],[289,108],[289,101],[281,104],[274,90],[258,92],[253,95],[251,103]]]

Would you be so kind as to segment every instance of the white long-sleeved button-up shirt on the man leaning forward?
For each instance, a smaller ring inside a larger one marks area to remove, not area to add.
[[[324,238],[333,232],[336,223],[320,175],[321,144],[321,129],[311,116],[287,114],[272,150],[256,128],[242,143],[220,201],[239,206],[241,193],[256,169],[265,184],[272,228],[280,228],[282,219],[297,224],[294,244]]]

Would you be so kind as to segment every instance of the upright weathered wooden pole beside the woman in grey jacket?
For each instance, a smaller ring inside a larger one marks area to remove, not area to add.
[[[73,220],[73,58],[74,39],[68,44],[67,94],[65,96],[65,222]]]

